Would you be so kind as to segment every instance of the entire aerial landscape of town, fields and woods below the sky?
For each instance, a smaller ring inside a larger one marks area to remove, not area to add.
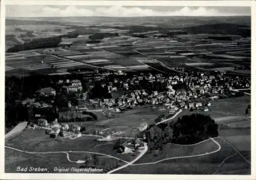
[[[6,17],[5,172],[250,174],[250,18]]]

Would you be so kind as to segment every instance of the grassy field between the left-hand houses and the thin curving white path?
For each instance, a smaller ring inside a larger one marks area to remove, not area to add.
[[[33,138],[30,138],[33,137]],[[117,155],[113,150],[113,144],[116,140],[110,142],[96,141],[98,137],[82,136],[70,140],[68,138],[52,139],[45,134],[45,130],[25,129],[13,139],[6,142],[6,146],[32,152],[47,151],[92,151],[104,154],[110,154],[126,161],[132,161],[132,154]],[[22,143],[21,143],[22,142]],[[104,144],[104,148],[96,148]]]

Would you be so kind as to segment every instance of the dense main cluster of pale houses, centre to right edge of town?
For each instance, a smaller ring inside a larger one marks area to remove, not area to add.
[[[142,80],[146,80],[148,83],[160,82],[165,85],[164,90],[149,93],[151,91],[148,91],[148,89],[130,89],[131,86],[134,88],[134,84],[138,85]],[[220,96],[225,97],[230,92],[232,94],[234,92],[230,90],[235,88],[250,87],[250,80],[246,78],[228,77],[225,73],[205,75],[200,72],[196,76],[186,74],[167,77],[161,74],[152,75],[148,73],[132,78],[122,78],[121,80],[114,79],[114,82],[102,85],[107,85],[111,92],[113,91],[111,87],[115,87],[116,91],[115,84],[117,83],[121,84],[119,88],[127,90],[125,95],[115,99],[95,99],[90,100],[90,102],[95,106],[115,107],[115,111],[123,107],[134,107],[142,104],[162,105],[164,108],[169,109],[170,114],[175,113],[179,108],[201,108],[204,111],[208,111],[210,100],[219,99]],[[185,84],[186,88],[175,91],[173,86],[178,84]]]

